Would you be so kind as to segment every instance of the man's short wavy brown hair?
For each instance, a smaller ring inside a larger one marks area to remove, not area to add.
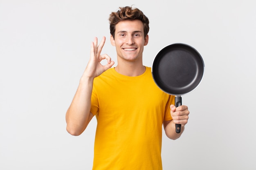
[[[115,26],[118,22],[123,20],[140,20],[143,23],[143,30],[144,30],[144,38],[146,38],[146,35],[149,31],[149,20],[144,15],[144,13],[137,9],[132,7],[119,7],[120,10],[117,12],[112,12],[109,17],[109,23],[110,23],[110,34],[115,39]]]

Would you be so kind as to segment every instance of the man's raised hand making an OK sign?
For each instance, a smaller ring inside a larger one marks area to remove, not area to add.
[[[106,37],[103,37],[101,43],[99,44],[99,46],[97,46],[98,38],[94,38],[94,42],[92,42],[91,46],[90,60],[85,68],[83,76],[94,79],[95,77],[101,75],[101,73],[108,70],[108,68],[111,68],[115,64],[115,62],[111,61],[111,58],[107,54],[101,55],[101,50],[105,44],[105,41]],[[103,66],[100,63],[101,60],[107,60],[108,63]]]

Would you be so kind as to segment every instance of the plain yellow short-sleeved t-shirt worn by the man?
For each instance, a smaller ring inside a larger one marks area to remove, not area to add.
[[[151,68],[136,77],[110,68],[94,79],[96,115],[93,170],[162,170],[162,123],[174,96],[155,84]]]

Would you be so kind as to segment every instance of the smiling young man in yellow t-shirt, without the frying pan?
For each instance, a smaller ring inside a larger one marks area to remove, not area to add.
[[[174,96],[155,84],[151,68],[142,64],[148,44],[149,21],[139,9],[120,7],[110,14],[110,41],[117,51],[117,66],[101,50],[97,38],[90,60],[67,110],[67,131],[80,135],[94,115],[97,130],[94,170],[162,170],[162,125],[177,139],[189,118],[187,106],[175,107]],[[101,60],[108,64],[101,65]],[[181,124],[181,132],[175,132]]]

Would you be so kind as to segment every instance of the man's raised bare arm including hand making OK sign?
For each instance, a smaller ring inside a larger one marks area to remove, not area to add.
[[[99,46],[97,46],[97,38],[92,42],[90,60],[80,79],[79,86],[70,107],[67,109],[67,132],[71,135],[80,135],[93,117],[92,113],[90,113],[90,108],[94,78],[114,65],[114,62],[111,61],[111,58],[108,55],[100,54],[105,40],[106,38],[103,37]],[[108,63],[103,66],[100,62],[105,59]]]

